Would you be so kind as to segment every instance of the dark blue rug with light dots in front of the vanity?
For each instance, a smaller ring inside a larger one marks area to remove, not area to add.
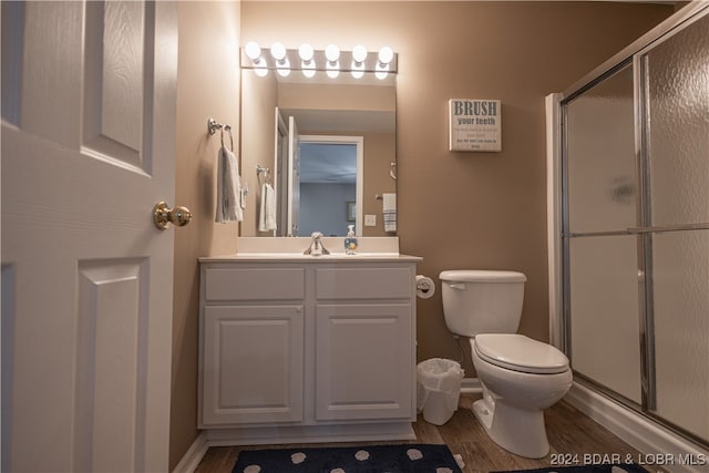
[[[233,473],[462,473],[446,445],[245,450]]]

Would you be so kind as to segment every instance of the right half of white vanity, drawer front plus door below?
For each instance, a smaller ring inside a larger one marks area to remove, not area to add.
[[[410,417],[411,269],[316,267],[315,274],[316,419]]]

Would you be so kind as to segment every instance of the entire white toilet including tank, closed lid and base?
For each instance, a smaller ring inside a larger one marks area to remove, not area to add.
[[[483,398],[473,412],[503,449],[528,459],[549,451],[544,409],[572,385],[568,359],[556,348],[517,335],[526,276],[516,271],[449,270],[439,275],[450,331],[470,337]]]

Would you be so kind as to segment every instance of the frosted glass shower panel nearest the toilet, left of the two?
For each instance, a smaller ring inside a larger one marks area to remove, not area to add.
[[[639,405],[634,113],[630,61],[564,106],[565,320],[575,374]]]

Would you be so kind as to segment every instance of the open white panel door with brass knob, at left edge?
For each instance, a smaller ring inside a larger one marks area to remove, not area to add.
[[[176,72],[172,2],[2,2],[2,471],[167,470]]]

